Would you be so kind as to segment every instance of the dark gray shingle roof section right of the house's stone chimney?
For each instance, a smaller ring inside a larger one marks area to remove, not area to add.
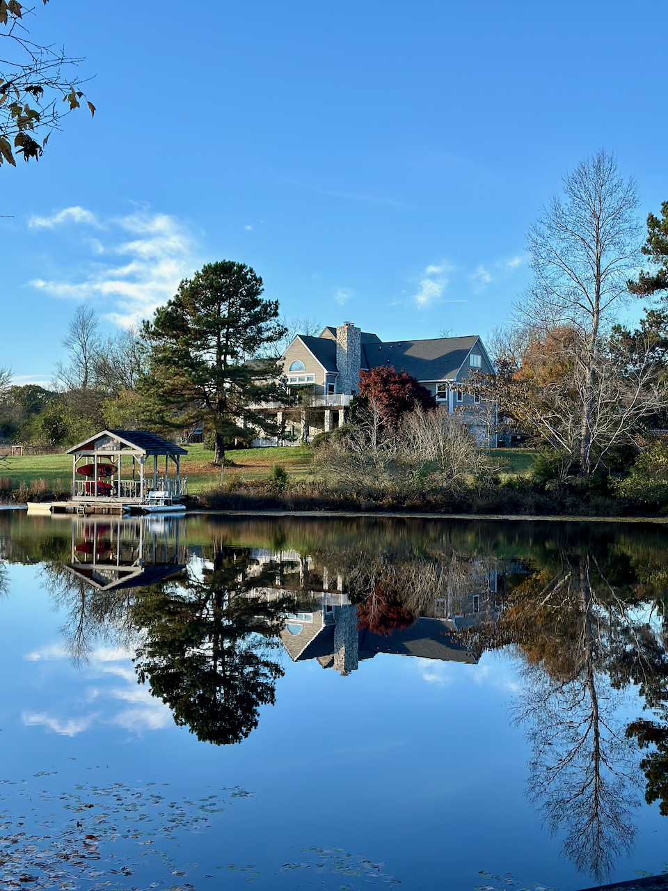
[[[477,335],[363,344],[363,367],[393,365],[417,380],[452,380],[476,343]],[[366,359],[366,362],[364,361]]]

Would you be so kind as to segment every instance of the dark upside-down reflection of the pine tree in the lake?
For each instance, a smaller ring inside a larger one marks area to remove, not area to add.
[[[248,596],[262,575],[245,580],[247,549],[223,548],[214,568],[178,587],[138,589],[134,622],[146,641],[135,667],[140,681],[172,709],[175,723],[216,745],[240,742],[257,727],[257,712],[274,702],[283,674],[271,657],[286,603]],[[265,584],[276,568],[264,570]]]

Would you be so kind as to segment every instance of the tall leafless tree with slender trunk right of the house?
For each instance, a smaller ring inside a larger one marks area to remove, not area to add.
[[[534,330],[566,326],[579,334],[579,457],[582,474],[589,475],[601,336],[628,297],[627,281],[639,257],[639,202],[634,181],[620,176],[615,156],[604,150],[565,176],[563,191],[563,199],[555,196],[528,233],[534,283],[517,315]]]

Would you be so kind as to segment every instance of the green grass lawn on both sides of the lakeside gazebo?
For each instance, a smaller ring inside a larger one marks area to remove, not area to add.
[[[281,464],[293,478],[310,475],[311,450],[301,446],[235,449],[228,452],[227,457],[235,466],[225,468],[226,477],[232,474],[242,479],[266,477],[274,464]],[[188,455],[181,459],[181,473],[188,478],[191,495],[197,495],[220,480],[220,468],[214,466],[213,458],[214,453],[204,446],[188,446]],[[29,485],[32,480],[40,478],[44,478],[50,486],[55,486],[56,480],[60,479],[61,486],[67,488],[72,478],[72,459],[69,454],[7,458],[0,462],[0,477],[9,477],[14,488],[18,488],[21,482]]]

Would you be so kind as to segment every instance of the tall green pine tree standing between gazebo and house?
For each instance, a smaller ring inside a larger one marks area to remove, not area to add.
[[[262,292],[262,279],[248,266],[209,263],[143,324],[151,344],[143,395],[173,426],[201,422],[214,433],[221,474],[225,442],[247,437],[246,423],[275,433],[275,419],[250,408],[281,396],[278,361],[251,361],[285,333],[278,301],[262,299]]]

